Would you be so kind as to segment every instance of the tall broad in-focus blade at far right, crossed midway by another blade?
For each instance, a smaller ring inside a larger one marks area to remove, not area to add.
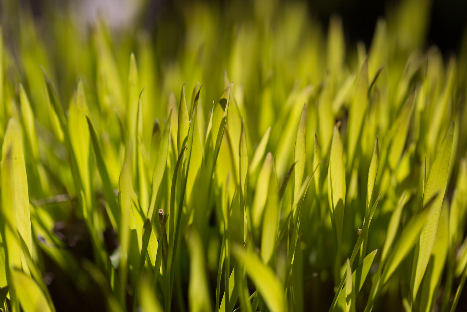
[[[425,184],[425,190],[423,193],[424,205],[431,199],[434,194],[439,195],[433,203],[433,207],[435,209],[434,213],[430,220],[428,220],[428,223],[424,227],[423,231],[420,233],[420,241],[419,244],[417,244],[415,250],[412,278],[410,282],[410,288],[412,290],[413,297],[417,296],[418,287],[422,282],[422,278],[425,274],[425,269],[428,265],[428,261],[430,260],[430,254],[432,253],[433,245],[436,239],[439,216],[441,213],[441,206],[443,203],[447,184],[447,171],[449,167],[449,158],[451,157],[453,136],[454,122],[451,123],[449,129],[446,132]]]

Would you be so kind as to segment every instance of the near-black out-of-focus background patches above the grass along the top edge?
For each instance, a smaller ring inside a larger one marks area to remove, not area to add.
[[[34,15],[42,15],[44,4],[55,2],[64,4],[73,0],[21,0],[29,3]],[[121,0],[115,0],[121,1]],[[227,6],[231,0],[208,0],[217,2],[221,7]],[[280,0],[279,0],[280,1]],[[396,7],[401,0],[304,0],[308,4],[311,18],[318,20],[327,29],[333,14],[342,17],[346,40],[355,43],[359,40],[369,46],[373,37],[376,21],[385,17],[388,11]],[[431,14],[428,22],[426,47],[436,44],[445,56],[459,51],[464,33],[467,30],[467,0],[428,0],[431,1]],[[183,0],[148,0],[147,9],[143,13],[145,25],[151,29],[156,27],[160,19],[177,19],[177,7]],[[241,2],[241,0],[240,0]],[[175,13],[175,14],[174,14]]]

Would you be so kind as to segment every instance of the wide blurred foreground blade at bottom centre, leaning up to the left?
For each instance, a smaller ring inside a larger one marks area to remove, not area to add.
[[[263,264],[252,251],[245,250],[239,245],[232,246],[232,253],[246,269],[248,276],[255,283],[268,309],[272,312],[282,312],[286,309],[286,298],[283,286],[274,271]]]

